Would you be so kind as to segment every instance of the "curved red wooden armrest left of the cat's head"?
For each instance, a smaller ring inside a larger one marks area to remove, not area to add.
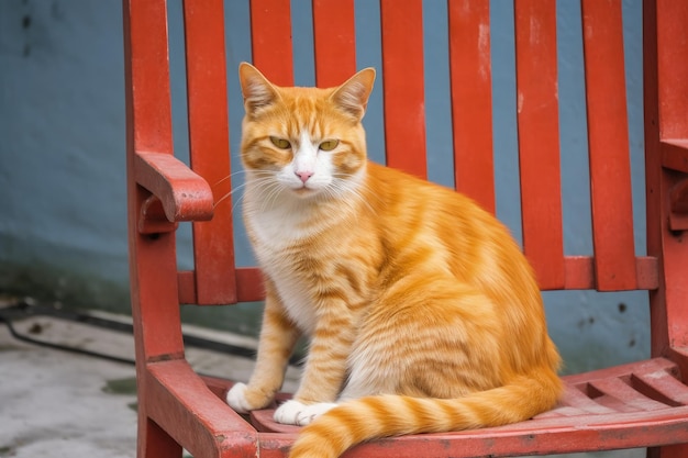
[[[212,219],[212,190],[186,164],[165,153],[136,153],[134,158],[136,182],[159,199],[169,222]]]

